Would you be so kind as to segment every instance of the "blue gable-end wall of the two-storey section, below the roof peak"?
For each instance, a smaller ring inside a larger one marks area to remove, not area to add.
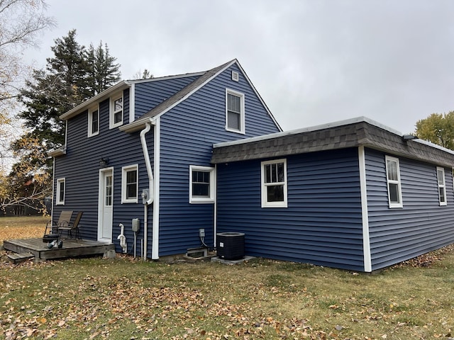
[[[214,245],[214,203],[189,203],[189,165],[211,166],[212,145],[278,132],[259,98],[233,64],[187,100],[162,115],[160,148],[160,256],[183,254],[205,243]],[[245,94],[245,135],[226,131],[226,88]]]

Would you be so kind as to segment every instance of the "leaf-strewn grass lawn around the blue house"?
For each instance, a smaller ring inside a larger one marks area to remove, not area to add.
[[[36,221],[0,219],[36,237]],[[41,221],[42,222],[42,221]],[[4,339],[454,339],[454,248],[373,274],[254,259],[68,259],[1,253]]]

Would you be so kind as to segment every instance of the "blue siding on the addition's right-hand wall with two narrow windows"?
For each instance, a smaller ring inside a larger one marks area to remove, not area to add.
[[[436,165],[397,157],[403,208],[388,208],[384,157],[382,152],[366,149],[372,270],[454,243],[451,169],[445,169],[448,205],[440,206]]]

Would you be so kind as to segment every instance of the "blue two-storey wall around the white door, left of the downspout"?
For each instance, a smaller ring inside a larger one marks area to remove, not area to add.
[[[123,123],[128,121],[129,98],[128,90],[123,93]],[[139,197],[138,203],[121,204],[121,173],[122,166],[138,164],[139,193],[148,188],[148,175],[145,168],[143,152],[140,145],[139,132],[132,135],[121,132],[118,128],[109,130],[109,100],[99,104],[99,135],[87,137],[87,111],[68,120],[67,154],[55,158],[55,181],[65,178],[65,205],[53,206],[53,216],[57,220],[62,210],[84,211],[80,222],[81,237],[97,239],[98,234],[98,198],[99,198],[99,160],[109,157],[109,167],[114,167],[114,219],[112,242],[116,251],[121,248],[116,240],[120,233],[118,225],[123,223],[128,242],[128,251],[133,249],[133,232],[131,219],[140,218],[140,231],[137,234],[137,250],[140,252],[140,239],[143,239],[144,208]],[[150,157],[153,157],[153,130],[148,132],[147,142]],[[56,190],[54,183],[54,191]],[[152,209],[149,209],[150,216]],[[75,215],[75,214],[74,214]],[[148,223],[151,229],[151,219]],[[150,230],[149,229],[149,230]],[[151,245],[150,245],[151,246]]]

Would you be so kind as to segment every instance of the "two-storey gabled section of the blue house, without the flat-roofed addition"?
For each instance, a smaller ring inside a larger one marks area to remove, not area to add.
[[[123,225],[128,253],[151,259],[200,246],[199,229],[214,244],[213,144],[281,131],[237,60],[121,81],[61,118],[52,214],[83,211],[81,237],[117,251]]]

